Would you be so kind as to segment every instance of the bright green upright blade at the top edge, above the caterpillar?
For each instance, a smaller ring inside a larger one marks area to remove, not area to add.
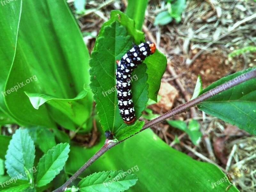
[[[141,30],[148,0],[128,0],[126,15],[135,21],[135,28]]]

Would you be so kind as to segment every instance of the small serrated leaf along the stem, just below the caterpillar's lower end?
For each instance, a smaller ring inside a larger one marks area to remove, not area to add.
[[[116,139],[120,141],[127,137],[130,137],[131,135],[134,135],[135,133],[137,133],[141,130],[144,123],[145,123],[144,121],[140,121],[139,123],[137,121],[135,124],[125,127],[124,129],[122,129],[115,135]]]

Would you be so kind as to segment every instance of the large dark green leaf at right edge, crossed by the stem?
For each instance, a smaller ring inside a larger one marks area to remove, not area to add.
[[[214,89],[231,79],[234,79],[234,81],[244,79],[244,73],[251,70],[253,69],[249,68],[246,71],[239,71],[227,77],[223,77],[206,87],[200,94]],[[254,70],[256,70],[256,68],[254,68]],[[256,78],[226,90],[228,86],[214,89],[216,93],[221,90],[225,91],[204,100],[198,104],[197,107],[209,115],[216,116],[230,124],[235,124],[240,129],[244,129],[251,134],[256,134]]]

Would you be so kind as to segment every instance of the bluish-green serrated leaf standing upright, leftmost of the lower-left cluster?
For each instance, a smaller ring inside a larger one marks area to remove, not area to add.
[[[26,130],[18,129],[12,135],[5,159],[5,167],[10,177],[20,175],[18,179],[28,180],[25,171],[34,165],[35,145]]]

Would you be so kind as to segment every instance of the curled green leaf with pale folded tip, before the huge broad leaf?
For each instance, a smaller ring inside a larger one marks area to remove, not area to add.
[[[35,109],[38,109],[39,106],[43,105],[44,103],[47,103],[50,106],[52,106],[52,108],[55,108],[55,110],[59,111],[59,113],[57,113],[58,115],[60,115],[60,113],[64,114],[65,118],[68,118],[70,121],[72,121],[78,126],[84,123],[85,116],[89,116],[88,109],[84,107],[84,102],[86,102],[85,96],[87,94],[87,91],[85,90],[81,91],[73,99],[59,99],[56,97],[40,93],[25,93]],[[71,127],[68,125],[64,126],[69,129]]]

